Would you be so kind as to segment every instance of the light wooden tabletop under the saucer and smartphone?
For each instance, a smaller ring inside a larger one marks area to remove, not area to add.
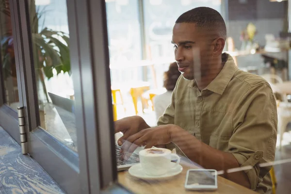
[[[129,175],[128,171],[118,173],[118,182],[136,194],[256,194],[241,185],[226,178],[218,176],[218,189],[214,192],[187,191],[184,188],[186,172],[188,169],[197,168],[193,164],[181,162],[183,171],[168,180],[142,180]]]

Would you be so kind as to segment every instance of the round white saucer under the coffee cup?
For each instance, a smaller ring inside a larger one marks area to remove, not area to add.
[[[175,162],[172,162],[172,163],[173,163],[173,165],[175,164]],[[142,178],[142,179],[146,179],[146,180],[154,180],[154,179],[164,179],[164,178],[174,177],[174,176],[180,174],[182,172],[182,170],[183,170],[183,167],[180,164],[178,164],[176,167],[169,170],[169,172],[167,172],[166,174],[163,174],[161,176],[150,176],[150,175],[146,175],[145,171],[142,168],[142,165],[140,163],[138,163],[138,164],[135,164],[129,168],[129,174],[133,177],[136,177],[136,178]]]

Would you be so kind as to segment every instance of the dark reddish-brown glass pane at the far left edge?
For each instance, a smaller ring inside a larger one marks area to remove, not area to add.
[[[4,85],[5,103],[17,110],[19,97],[16,79],[14,54],[14,38],[12,34],[11,13],[8,0],[0,1],[0,40],[1,40],[1,72]]]

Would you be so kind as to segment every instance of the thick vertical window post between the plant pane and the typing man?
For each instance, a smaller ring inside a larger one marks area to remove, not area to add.
[[[75,3],[80,64],[87,66],[87,72],[81,73],[84,75],[82,84],[85,86],[86,80],[92,79],[94,94],[90,95],[94,103],[91,106],[96,115],[93,119],[97,120],[97,126],[86,128],[87,151],[90,153],[88,156],[90,188],[93,189],[99,184],[100,193],[128,194],[129,190],[117,182],[106,4],[104,0],[75,0]],[[99,174],[94,173],[97,171],[95,169],[97,162]]]

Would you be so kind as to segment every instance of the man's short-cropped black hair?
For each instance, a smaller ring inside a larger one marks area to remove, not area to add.
[[[178,17],[176,23],[194,23],[208,31],[217,31],[226,40],[226,23],[216,10],[210,7],[197,7]]]

